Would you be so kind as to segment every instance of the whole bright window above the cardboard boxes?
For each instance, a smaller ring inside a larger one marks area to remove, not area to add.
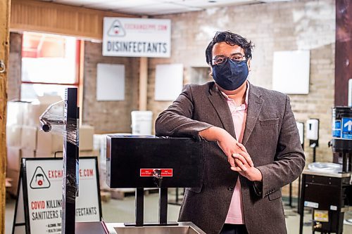
[[[75,37],[34,32],[23,33],[21,100],[58,95],[78,87],[80,41]]]

